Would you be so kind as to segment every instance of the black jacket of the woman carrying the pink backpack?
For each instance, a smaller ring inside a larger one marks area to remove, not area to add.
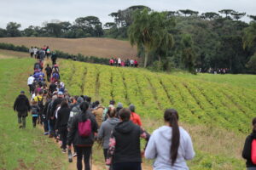
[[[79,122],[84,122],[87,119],[90,119],[91,122],[91,133],[90,137],[81,137],[79,136]],[[94,133],[97,132],[98,125],[94,116],[90,115],[90,112],[87,111],[84,113],[79,113],[76,116],[73,116],[73,121],[71,123],[70,131],[67,134],[67,144],[71,145],[72,142],[74,145],[80,146],[92,146],[94,143]]]

